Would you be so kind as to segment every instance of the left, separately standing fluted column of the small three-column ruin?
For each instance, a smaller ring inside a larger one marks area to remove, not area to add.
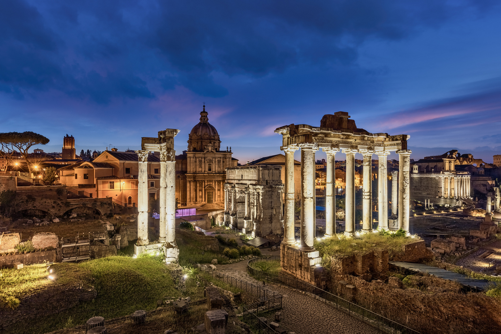
[[[148,151],[136,151],[139,171],[137,175],[137,242],[147,245],[148,240]]]

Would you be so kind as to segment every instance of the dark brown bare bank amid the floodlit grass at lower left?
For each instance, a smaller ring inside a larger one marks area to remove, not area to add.
[[[14,310],[1,307],[0,327],[30,318],[59,313],[76,306],[79,302],[90,301],[96,296],[96,290],[91,286],[54,284],[46,290],[19,298],[20,305]]]

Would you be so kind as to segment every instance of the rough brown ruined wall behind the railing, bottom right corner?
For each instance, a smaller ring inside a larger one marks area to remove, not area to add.
[[[432,288],[426,292],[382,281],[367,282],[351,275],[332,277],[327,285],[333,293],[422,334],[501,333],[501,304],[497,299],[483,293],[451,292],[457,287],[449,285],[457,283],[430,276],[423,278],[432,281],[429,283]]]

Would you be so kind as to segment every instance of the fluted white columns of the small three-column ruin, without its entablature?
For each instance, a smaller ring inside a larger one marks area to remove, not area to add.
[[[149,244],[148,239],[148,155],[149,151],[136,151],[138,156],[137,189],[137,245]],[[160,243],[175,242],[175,154],[173,150],[160,152]]]

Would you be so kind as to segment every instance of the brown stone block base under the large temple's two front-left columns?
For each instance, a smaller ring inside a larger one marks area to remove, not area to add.
[[[302,251],[295,246],[280,247],[280,264],[282,270],[320,288],[325,286],[324,268],[320,266],[322,258],[318,250]]]

